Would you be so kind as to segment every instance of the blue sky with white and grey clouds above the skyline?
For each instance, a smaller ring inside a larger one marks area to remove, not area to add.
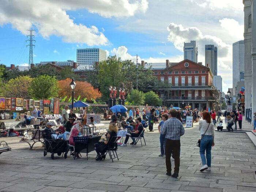
[[[1,0],[0,63],[29,62],[27,29],[34,29],[34,63],[76,61],[77,48],[147,63],[183,60],[184,42],[218,47],[222,90],[232,87],[232,44],[244,39],[242,0]]]

